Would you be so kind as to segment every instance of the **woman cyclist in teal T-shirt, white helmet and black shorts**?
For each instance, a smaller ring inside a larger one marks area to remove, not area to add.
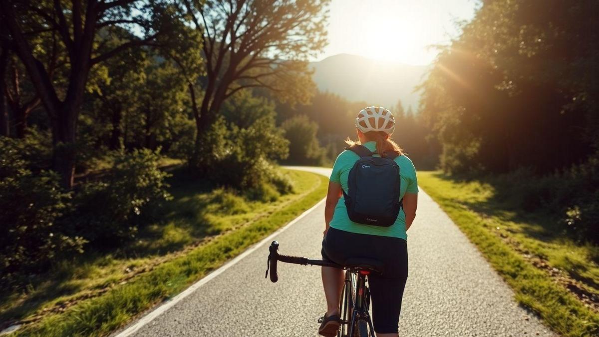
[[[388,115],[389,114],[389,115]],[[362,257],[382,261],[382,275],[368,276],[373,308],[374,331],[379,337],[398,335],[401,299],[408,273],[406,231],[416,217],[418,183],[412,161],[401,148],[389,139],[395,129],[395,119],[383,107],[367,107],[358,113],[356,132],[358,141],[349,138],[347,145],[364,145],[377,154],[394,153],[400,167],[400,198],[403,207],[397,220],[389,227],[352,222],[347,214],[343,191],[347,192],[347,177],[353,164],[359,160],[355,152],[345,150],[337,157],[332,169],[325,206],[325,231],[322,241],[323,260],[344,264],[348,258]],[[343,290],[342,269],[322,267],[322,284],[327,310],[318,330],[320,335],[335,336],[340,326],[339,302]]]

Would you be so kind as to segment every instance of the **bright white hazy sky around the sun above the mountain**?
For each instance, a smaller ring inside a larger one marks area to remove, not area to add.
[[[325,52],[429,64],[431,44],[456,37],[455,20],[471,20],[477,0],[332,0]]]

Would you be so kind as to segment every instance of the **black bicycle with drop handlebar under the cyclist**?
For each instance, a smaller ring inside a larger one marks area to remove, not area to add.
[[[270,281],[277,282],[277,261],[307,266],[326,266],[346,270],[341,300],[339,301],[339,314],[341,326],[337,332],[338,337],[374,337],[374,327],[368,308],[370,308],[370,292],[366,285],[370,273],[383,273],[381,261],[371,258],[350,258],[343,266],[331,261],[313,260],[307,257],[296,257],[279,254],[279,242],[273,241],[268,248],[267,278],[270,270]],[[350,318],[351,316],[351,318]],[[348,320],[348,318],[350,318]]]

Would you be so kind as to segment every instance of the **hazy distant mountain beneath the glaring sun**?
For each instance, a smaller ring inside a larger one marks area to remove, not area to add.
[[[401,100],[404,109],[418,108],[415,86],[424,79],[429,65],[407,65],[376,61],[357,55],[339,54],[311,62],[313,79],[320,91],[338,94],[350,101],[366,101],[391,108]]]

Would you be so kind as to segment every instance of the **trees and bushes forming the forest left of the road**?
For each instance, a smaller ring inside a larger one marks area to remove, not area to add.
[[[2,283],[132,240],[172,198],[164,167],[288,192],[274,102],[313,95],[325,5],[2,1]]]

